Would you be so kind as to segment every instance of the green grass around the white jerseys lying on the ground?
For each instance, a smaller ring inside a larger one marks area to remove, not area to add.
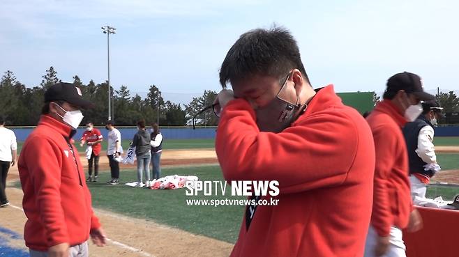
[[[151,190],[123,185],[125,182],[137,180],[136,174],[136,171],[121,171],[120,185],[112,186],[105,184],[105,181],[109,180],[110,173],[100,173],[100,182],[89,183],[93,206],[131,217],[150,219],[217,240],[236,242],[244,211],[243,206],[213,207],[186,204],[187,198],[236,198],[230,196],[229,185],[226,190],[227,196],[186,196],[186,189]],[[166,168],[162,169],[161,176],[174,174],[195,175],[200,180],[223,180],[218,166]]]

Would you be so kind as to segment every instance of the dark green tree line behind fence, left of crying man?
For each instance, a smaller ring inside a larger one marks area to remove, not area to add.
[[[0,80],[0,115],[6,118],[9,126],[33,126],[38,123],[43,107],[44,94],[47,88],[61,81],[57,71],[51,66],[42,76],[39,86],[29,87],[22,84],[10,70],[4,72]],[[96,84],[92,79],[89,84],[83,84],[80,77],[73,77],[73,84],[78,86],[83,98],[95,104],[95,108],[82,110],[84,119],[82,124],[91,121],[94,125],[103,125],[108,114],[108,83]],[[176,104],[165,101],[158,86],[149,86],[146,98],[140,95],[131,95],[128,86],[121,86],[114,90],[110,86],[112,95],[112,120],[116,125],[132,126],[138,120],[144,119],[147,124],[157,122],[161,126],[189,125],[191,118],[201,109],[212,104],[217,93],[204,91],[203,95],[189,104]],[[217,125],[217,118],[211,111],[197,116],[196,125]]]

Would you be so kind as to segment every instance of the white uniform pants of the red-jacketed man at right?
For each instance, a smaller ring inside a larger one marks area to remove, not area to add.
[[[366,237],[365,243],[365,257],[375,257],[377,237],[378,235],[375,231],[375,228],[370,225],[370,228],[368,228],[368,235]],[[406,257],[406,247],[402,239],[402,231],[400,228],[396,228],[395,226],[391,227],[389,242],[389,247],[383,257]]]

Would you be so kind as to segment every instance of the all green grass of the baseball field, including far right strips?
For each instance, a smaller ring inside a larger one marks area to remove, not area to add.
[[[127,149],[129,141],[122,142],[123,148]],[[22,144],[20,144],[22,145]],[[435,138],[435,145],[459,146],[459,137]],[[213,148],[213,139],[194,140],[167,140],[165,149],[189,149],[189,148]],[[103,146],[106,147],[106,146]],[[83,151],[82,148],[79,148]],[[441,153],[437,160],[443,170],[459,169],[459,154]],[[162,169],[162,176],[168,175],[194,175],[200,180],[223,181],[219,166],[195,166],[183,168]],[[123,185],[126,182],[137,180],[135,171],[121,171],[120,185],[112,186],[105,184],[109,180],[110,173],[100,173],[98,183],[90,183],[89,188],[93,197],[93,206],[104,210],[110,210],[122,215],[149,219],[159,224],[165,224],[175,228],[213,237],[217,240],[234,243],[239,233],[239,227],[243,217],[244,206],[204,206],[187,205],[186,199],[223,199],[235,198],[230,196],[230,187],[227,186],[226,196],[186,196],[186,189],[176,190],[149,190],[132,188]],[[20,186],[20,185],[19,185]],[[442,196],[444,200],[451,200],[459,194],[459,187],[442,187],[432,185],[428,187],[427,196],[435,198]]]

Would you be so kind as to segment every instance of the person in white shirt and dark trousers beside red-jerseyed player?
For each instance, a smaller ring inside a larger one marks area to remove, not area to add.
[[[118,184],[119,180],[119,162],[116,160],[121,156],[121,132],[114,127],[112,120],[105,123],[105,128],[108,132],[108,143],[107,143],[107,157],[110,163],[110,173],[112,173],[112,179],[107,181],[110,185]]]

